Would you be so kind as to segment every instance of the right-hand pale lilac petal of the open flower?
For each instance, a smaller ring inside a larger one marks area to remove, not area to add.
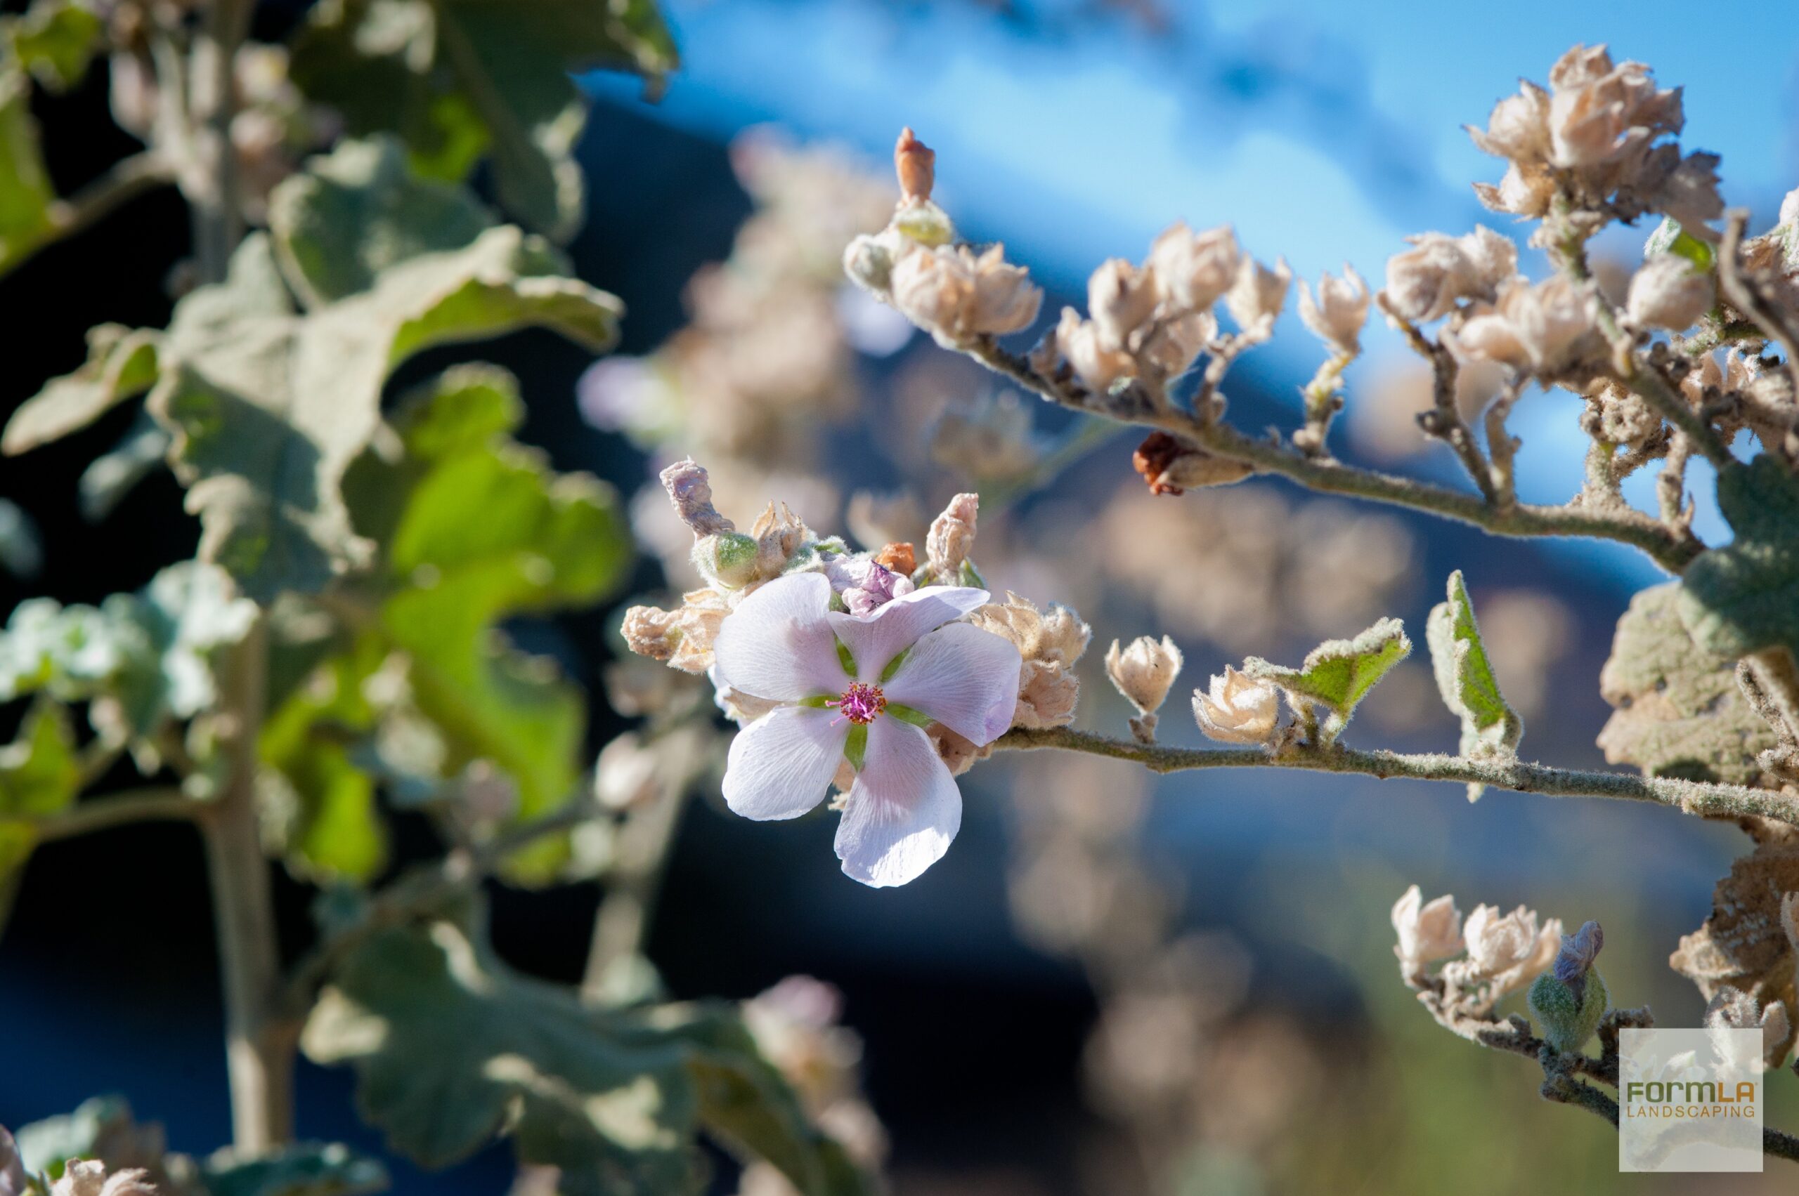
[[[1011,727],[1022,669],[1016,644],[970,622],[952,622],[914,644],[882,692],[980,746]]]

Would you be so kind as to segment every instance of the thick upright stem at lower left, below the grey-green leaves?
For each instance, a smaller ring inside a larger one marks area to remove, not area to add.
[[[257,1155],[293,1137],[295,1025],[279,1016],[281,944],[268,860],[255,820],[257,732],[266,696],[268,628],[259,619],[232,651],[223,710],[230,779],[200,817],[212,879],[225,987],[225,1063],[232,1144]]]

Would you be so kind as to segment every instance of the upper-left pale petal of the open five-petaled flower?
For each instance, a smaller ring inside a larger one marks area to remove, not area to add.
[[[829,608],[831,583],[824,574],[792,574],[761,586],[718,628],[712,642],[718,680],[774,701],[844,692],[849,678],[826,622]]]

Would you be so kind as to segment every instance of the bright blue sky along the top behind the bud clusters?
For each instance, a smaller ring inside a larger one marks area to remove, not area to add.
[[[666,7],[685,58],[666,97],[642,104],[612,77],[594,81],[603,99],[718,138],[774,120],[876,164],[912,124],[937,149],[939,200],[961,228],[1006,241],[1067,293],[1105,257],[1141,257],[1177,218],[1231,221],[1302,277],[1349,261],[1378,279],[1425,228],[1486,221],[1522,239],[1473,201],[1468,183],[1500,169],[1461,126],[1484,124],[1518,76],[1544,79],[1574,41],[1607,41],[1686,86],[1682,140],[1723,155],[1732,203],[1770,218],[1799,183],[1799,22],[1785,4],[1169,4],[1160,31],[1074,2],[1015,16],[973,0]],[[1277,390],[1317,360],[1286,322],[1258,361]],[[1371,333],[1371,361],[1401,351]],[[1520,405],[1527,498],[1576,486],[1572,412],[1565,396]]]

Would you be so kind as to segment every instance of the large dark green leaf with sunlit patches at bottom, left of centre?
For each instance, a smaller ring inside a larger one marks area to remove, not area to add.
[[[567,1196],[684,1192],[709,1128],[806,1196],[867,1191],[732,1014],[585,1007],[450,923],[365,939],[300,1045],[353,1065],[363,1117],[425,1167],[511,1137],[520,1162],[561,1169]]]

